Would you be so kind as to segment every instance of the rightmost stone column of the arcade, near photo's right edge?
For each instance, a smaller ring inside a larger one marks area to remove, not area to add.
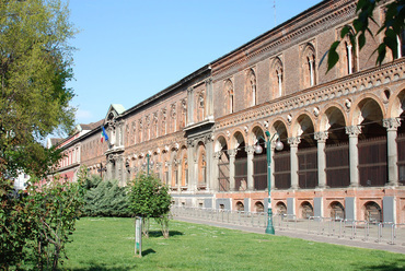
[[[398,153],[396,144],[396,130],[401,126],[400,118],[383,119],[383,126],[386,128],[386,154],[389,168],[387,186],[398,186]]]

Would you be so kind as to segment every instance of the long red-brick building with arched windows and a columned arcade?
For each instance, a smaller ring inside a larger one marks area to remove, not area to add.
[[[328,73],[320,64],[355,11],[323,1],[129,109],[112,105],[107,143],[100,126],[72,141],[80,164],[125,185],[149,157],[174,204],[265,211],[268,131],[276,213],[405,223],[405,58],[375,67],[377,37],[361,52],[344,40]]]

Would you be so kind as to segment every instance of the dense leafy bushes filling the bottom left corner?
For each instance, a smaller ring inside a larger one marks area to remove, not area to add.
[[[1,179],[0,269],[32,262],[39,270],[56,270],[81,215],[81,181],[55,178],[18,197],[11,192],[12,184]]]

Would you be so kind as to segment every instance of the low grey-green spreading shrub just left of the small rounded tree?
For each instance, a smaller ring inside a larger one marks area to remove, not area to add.
[[[84,215],[88,216],[130,216],[126,188],[116,180],[103,181],[94,175],[86,180]]]

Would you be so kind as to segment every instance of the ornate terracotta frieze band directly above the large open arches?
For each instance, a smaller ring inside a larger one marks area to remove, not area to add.
[[[293,93],[288,96],[265,103],[254,109],[245,109],[216,119],[215,130],[228,130],[231,127],[245,125],[252,120],[264,120],[269,116],[286,114],[294,109],[306,108],[310,105],[327,103],[335,98],[352,96],[356,93],[367,92],[375,86],[383,86],[391,82],[405,79],[405,58],[381,67],[358,72],[343,79]],[[347,110],[351,107],[351,99],[345,102]]]

